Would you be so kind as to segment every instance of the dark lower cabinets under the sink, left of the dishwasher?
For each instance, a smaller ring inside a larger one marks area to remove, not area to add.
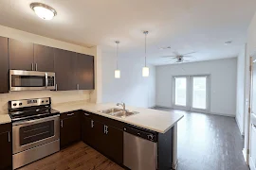
[[[123,163],[123,131],[99,120],[93,113],[82,115],[82,141],[119,164]],[[101,122],[100,122],[101,121]]]

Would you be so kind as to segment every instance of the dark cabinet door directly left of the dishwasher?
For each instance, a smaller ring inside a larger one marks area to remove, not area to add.
[[[106,155],[119,164],[123,163],[123,131],[116,127],[107,127],[105,132]]]

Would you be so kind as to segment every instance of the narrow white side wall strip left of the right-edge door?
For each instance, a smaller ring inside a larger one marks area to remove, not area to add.
[[[236,122],[241,134],[244,134],[244,116],[245,116],[245,92],[246,92],[246,48],[241,50],[237,58],[237,96],[236,96]]]

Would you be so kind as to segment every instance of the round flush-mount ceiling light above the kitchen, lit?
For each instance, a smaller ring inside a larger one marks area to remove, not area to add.
[[[32,8],[37,16],[43,20],[52,20],[52,18],[57,15],[56,10],[46,4],[32,3],[30,4],[30,8]]]

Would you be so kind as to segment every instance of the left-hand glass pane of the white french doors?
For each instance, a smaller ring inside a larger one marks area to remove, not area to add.
[[[187,78],[175,77],[175,105],[186,106]]]

